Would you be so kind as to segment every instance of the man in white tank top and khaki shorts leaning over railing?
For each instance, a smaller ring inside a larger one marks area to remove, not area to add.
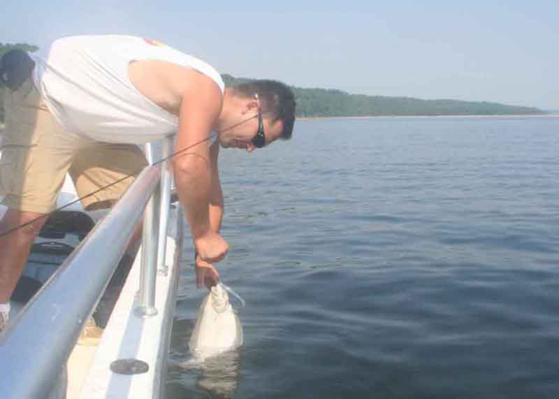
[[[173,169],[196,248],[196,283],[217,282],[212,263],[228,251],[219,234],[219,147],[252,152],[291,138],[295,101],[286,85],[254,80],[225,88],[204,61],[133,36],[61,38],[45,59],[5,55],[0,78],[8,87],[0,164],[0,195],[8,207],[0,221],[0,329],[66,173],[78,195],[86,196],[141,170],[146,161],[137,145],[171,133],[177,133]],[[132,182],[103,189],[82,205],[108,207]]]

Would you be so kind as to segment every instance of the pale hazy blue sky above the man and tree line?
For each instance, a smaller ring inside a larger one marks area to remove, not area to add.
[[[559,110],[559,1],[2,0],[0,42],[133,34],[299,87]]]

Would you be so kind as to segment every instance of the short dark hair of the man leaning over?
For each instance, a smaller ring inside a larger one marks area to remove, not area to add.
[[[252,98],[254,94],[262,103],[263,112],[272,122],[281,120],[284,126],[280,138],[289,140],[295,123],[295,96],[291,89],[276,80],[251,80],[231,87],[233,92],[242,97]]]

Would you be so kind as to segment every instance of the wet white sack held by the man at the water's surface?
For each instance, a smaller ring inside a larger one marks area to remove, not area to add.
[[[189,342],[191,354],[208,358],[242,345],[242,326],[229,303],[226,286],[218,283],[204,298]]]

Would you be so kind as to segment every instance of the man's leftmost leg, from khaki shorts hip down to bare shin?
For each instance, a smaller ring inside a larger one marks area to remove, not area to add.
[[[9,303],[78,143],[52,118],[31,80],[15,91],[6,89],[5,95],[0,196],[8,211],[0,222],[0,303]]]

